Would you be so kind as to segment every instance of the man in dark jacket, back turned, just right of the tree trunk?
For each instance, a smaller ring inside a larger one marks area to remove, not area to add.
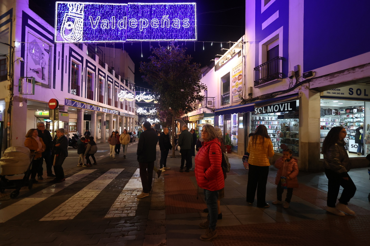
[[[186,172],[189,172],[192,169],[193,163],[191,160],[191,145],[193,143],[193,135],[189,132],[189,128],[187,125],[182,126],[182,132],[179,135],[179,146],[180,146],[180,153],[181,153],[181,166],[180,172],[184,171],[184,164],[186,160]]]

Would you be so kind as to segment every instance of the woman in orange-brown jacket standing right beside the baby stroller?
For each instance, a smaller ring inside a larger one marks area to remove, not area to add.
[[[31,169],[31,180],[32,183],[38,183],[35,179],[37,170],[40,168],[40,165],[43,164],[43,158],[41,158],[41,153],[45,151],[46,145],[43,142],[42,138],[38,137],[37,129],[29,129],[26,134],[26,141],[24,141],[24,146],[30,150],[35,151],[35,157],[32,161]],[[39,180],[43,180],[43,176],[38,176]]]

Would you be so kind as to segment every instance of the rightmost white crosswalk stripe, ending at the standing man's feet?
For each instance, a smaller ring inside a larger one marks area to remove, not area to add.
[[[140,173],[139,169],[137,169],[123,188],[121,194],[115,200],[112,207],[109,209],[108,214],[105,215],[105,218],[135,216],[135,212],[139,203],[136,196],[141,194],[141,192],[142,185]]]

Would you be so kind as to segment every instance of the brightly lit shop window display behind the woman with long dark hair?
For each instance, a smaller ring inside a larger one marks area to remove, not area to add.
[[[357,153],[357,144],[354,142],[354,135],[356,134],[356,129],[361,124],[364,124],[365,114],[363,108],[361,106],[359,108],[351,107],[339,109],[338,111],[340,112],[338,115],[329,114],[320,118],[320,150],[330,129],[341,126],[347,131],[347,137],[344,138],[344,141],[347,143],[346,150]]]

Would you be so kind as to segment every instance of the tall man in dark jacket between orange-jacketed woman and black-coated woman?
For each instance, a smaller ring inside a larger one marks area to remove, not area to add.
[[[53,166],[53,162],[51,161],[51,145],[53,139],[51,138],[50,132],[45,129],[44,122],[37,123],[37,132],[38,137],[43,139],[43,142],[46,145],[46,150],[42,153],[41,158],[45,160],[47,176],[55,177],[55,175],[53,174],[53,170],[51,169],[51,167]],[[43,166],[40,165],[40,169],[37,171],[37,176],[39,180],[43,180],[43,171]]]

